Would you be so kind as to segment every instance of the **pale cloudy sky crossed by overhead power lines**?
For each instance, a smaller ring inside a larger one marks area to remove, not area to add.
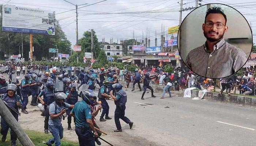
[[[113,38],[114,42],[120,43],[120,40],[133,37],[140,42],[147,36],[152,40],[151,46],[154,46],[155,38],[158,38],[158,44],[161,34],[170,39],[168,27],[179,24],[181,0],[0,0],[0,4],[54,11],[73,46],[76,43],[75,5],[67,1],[79,5],[78,38],[83,37],[84,31],[94,29],[99,42],[102,38],[105,38],[105,42]],[[195,2],[183,0],[182,8],[195,7]],[[256,35],[255,0],[202,0],[199,3],[222,3],[236,8],[249,22],[253,35]],[[191,11],[183,11],[182,20]],[[253,42],[256,43],[255,40]]]

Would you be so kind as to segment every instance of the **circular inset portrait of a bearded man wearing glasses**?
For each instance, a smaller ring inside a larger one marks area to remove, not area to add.
[[[181,23],[178,51],[194,73],[224,78],[245,65],[252,51],[252,31],[236,9],[224,4],[202,5]]]

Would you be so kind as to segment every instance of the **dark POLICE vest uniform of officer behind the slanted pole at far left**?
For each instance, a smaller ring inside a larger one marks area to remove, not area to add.
[[[18,110],[18,105],[16,104],[16,101],[18,101],[21,105],[22,105],[22,101],[19,95],[14,94],[12,97],[8,96],[8,93],[5,93],[3,96],[1,96],[1,99],[3,101],[5,101],[10,107],[15,108],[17,111]],[[12,110],[10,110],[12,115],[14,116],[14,118],[18,121],[18,114]],[[7,136],[8,130],[9,130],[9,126],[8,123],[1,118],[1,134],[3,135],[3,137]],[[16,140],[17,140],[17,135],[16,133],[11,129],[11,145],[15,145],[16,144]]]

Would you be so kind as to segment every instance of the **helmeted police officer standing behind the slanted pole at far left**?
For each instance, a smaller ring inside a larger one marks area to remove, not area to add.
[[[16,85],[9,84],[7,86],[7,92],[3,96],[1,96],[1,99],[5,101],[10,107],[13,107],[15,108],[16,111],[19,111],[18,107],[22,108],[22,101],[20,99],[20,96],[15,94],[16,90],[17,90]],[[14,116],[14,118],[18,121],[18,114],[12,110],[11,110],[11,113]],[[1,134],[3,135],[2,142],[5,142],[6,140],[6,136],[9,128],[10,127],[8,126],[8,123],[3,118],[1,118]],[[11,145],[12,146],[16,146],[16,140],[17,140],[17,135],[11,129]]]

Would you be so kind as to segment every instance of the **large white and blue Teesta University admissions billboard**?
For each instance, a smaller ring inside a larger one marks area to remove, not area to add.
[[[54,12],[5,5],[2,31],[55,35]]]

